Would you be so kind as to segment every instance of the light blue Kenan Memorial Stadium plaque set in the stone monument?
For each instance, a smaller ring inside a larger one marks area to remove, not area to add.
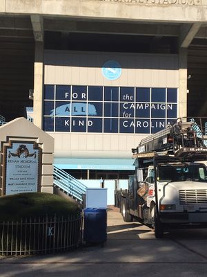
[[[5,195],[38,190],[39,149],[34,143],[12,143],[5,151]]]

